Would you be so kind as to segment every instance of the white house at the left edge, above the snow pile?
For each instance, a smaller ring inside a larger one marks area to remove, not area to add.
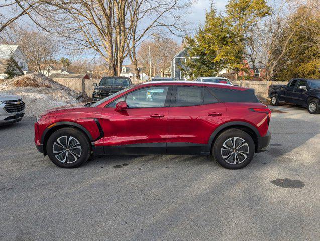
[[[26,73],[28,71],[28,60],[17,44],[0,44],[0,59],[10,59],[13,57],[21,70]]]

